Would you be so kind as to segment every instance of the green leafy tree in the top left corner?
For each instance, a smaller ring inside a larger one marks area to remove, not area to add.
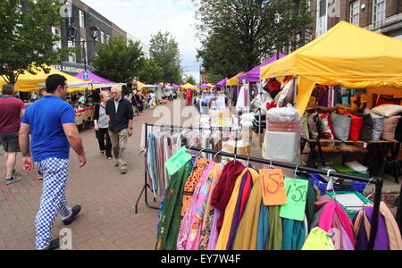
[[[0,76],[15,84],[21,74],[50,71],[46,65],[61,63],[68,49],[55,49],[60,38],[49,31],[62,20],[58,0],[27,0],[21,11],[17,0],[0,1]]]

